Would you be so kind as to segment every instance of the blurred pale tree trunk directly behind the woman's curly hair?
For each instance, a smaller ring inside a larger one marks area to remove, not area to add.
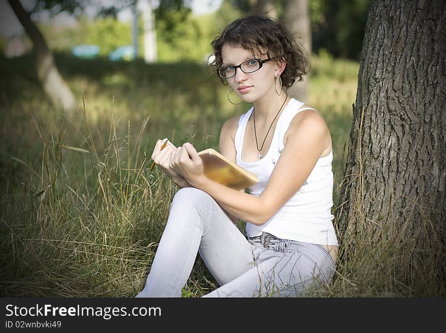
[[[288,24],[292,32],[298,34],[298,38],[305,50],[311,53],[311,25],[308,0],[283,1],[283,21]],[[287,91],[288,95],[305,102],[308,98],[310,73],[304,77],[304,81],[294,83]]]

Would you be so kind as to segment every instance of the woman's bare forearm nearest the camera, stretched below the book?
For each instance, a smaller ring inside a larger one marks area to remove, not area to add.
[[[263,225],[268,220],[268,209],[261,197],[231,189],[207,177],[200,181],[196,188],[209,194],[221,208],[234,217],[237,216],[257,226]]]

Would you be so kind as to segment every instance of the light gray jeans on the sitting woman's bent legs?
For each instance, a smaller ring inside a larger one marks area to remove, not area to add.
[[[197,251],[220,285],[204,297],[300,297],[328,284],[334,263],[317,244],[244,236],[218,203],[196,188],[180,189],[144,289],[136,297],[181,297]]]

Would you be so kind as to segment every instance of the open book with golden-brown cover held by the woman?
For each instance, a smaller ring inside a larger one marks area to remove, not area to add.
[[[167,141],[174,146],[169,140]],[[212,148],[198,152],[198,155],[203,161],[204,174],[220,184],[235,190],[244,190],[258,182],[256,174],[230,161]]]

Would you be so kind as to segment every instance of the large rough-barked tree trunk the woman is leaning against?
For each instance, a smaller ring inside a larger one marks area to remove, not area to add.
[[[411,265],[435,253],[443,275],[445,28],[443,0],[371,2],[336,213],[341,242],[399,237],[421,253]]]

